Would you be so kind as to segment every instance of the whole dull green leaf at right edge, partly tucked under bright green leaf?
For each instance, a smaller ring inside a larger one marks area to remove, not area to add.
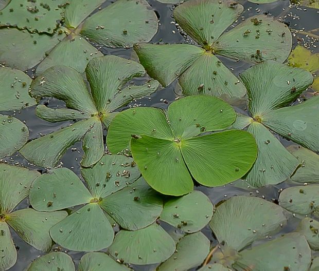
[[[277,184],[290,178],[298,160],[267,129],[303,146],[317,150],[319,128],[315,120],[317,98],[296,106],[293,102],[312,83],[309,72],[274,61],[258,64],[240,74],[250,98],[251,118],[239,115],[235,128],[251,132],[258,145],[258,157],[246,176],[252,186]]]

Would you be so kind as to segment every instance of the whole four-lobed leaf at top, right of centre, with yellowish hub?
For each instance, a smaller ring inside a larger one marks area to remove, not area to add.
[[[201,47],[192,45],[137,44],[140,63],[163,86],[179,78],[185,95],[206,94],[233,100],[246,89],[215,56],[262,62],[287,59],[292,46],[288,27],[272,17],[258,15],[223,32],[242,13],[243,7],[228,1],[190,0],[176,7],[176,22]]]

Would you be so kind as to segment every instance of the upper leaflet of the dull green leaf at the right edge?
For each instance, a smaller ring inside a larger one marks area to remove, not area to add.
[[[313,81],[310,72],[275,61],[255,65],[241,73],[240,78],[247,88],[249,110],[255,119],[289,105]]]

